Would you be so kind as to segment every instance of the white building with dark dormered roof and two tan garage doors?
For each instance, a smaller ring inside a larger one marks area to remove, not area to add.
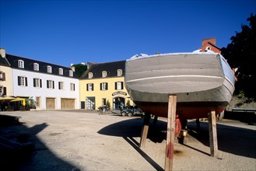
[[[71,68],[6,54],[12,96],[34,102],[37,110],[79,109],[79,77]]]

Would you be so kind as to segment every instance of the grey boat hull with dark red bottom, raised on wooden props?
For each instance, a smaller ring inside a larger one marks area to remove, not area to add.
[[[177,95],[181,119],[221,113],[235,83],[225,58],[212,51],[135,55],[126,61],[124,79],[131,99],[146,113],[167,117],[168,95]]]

